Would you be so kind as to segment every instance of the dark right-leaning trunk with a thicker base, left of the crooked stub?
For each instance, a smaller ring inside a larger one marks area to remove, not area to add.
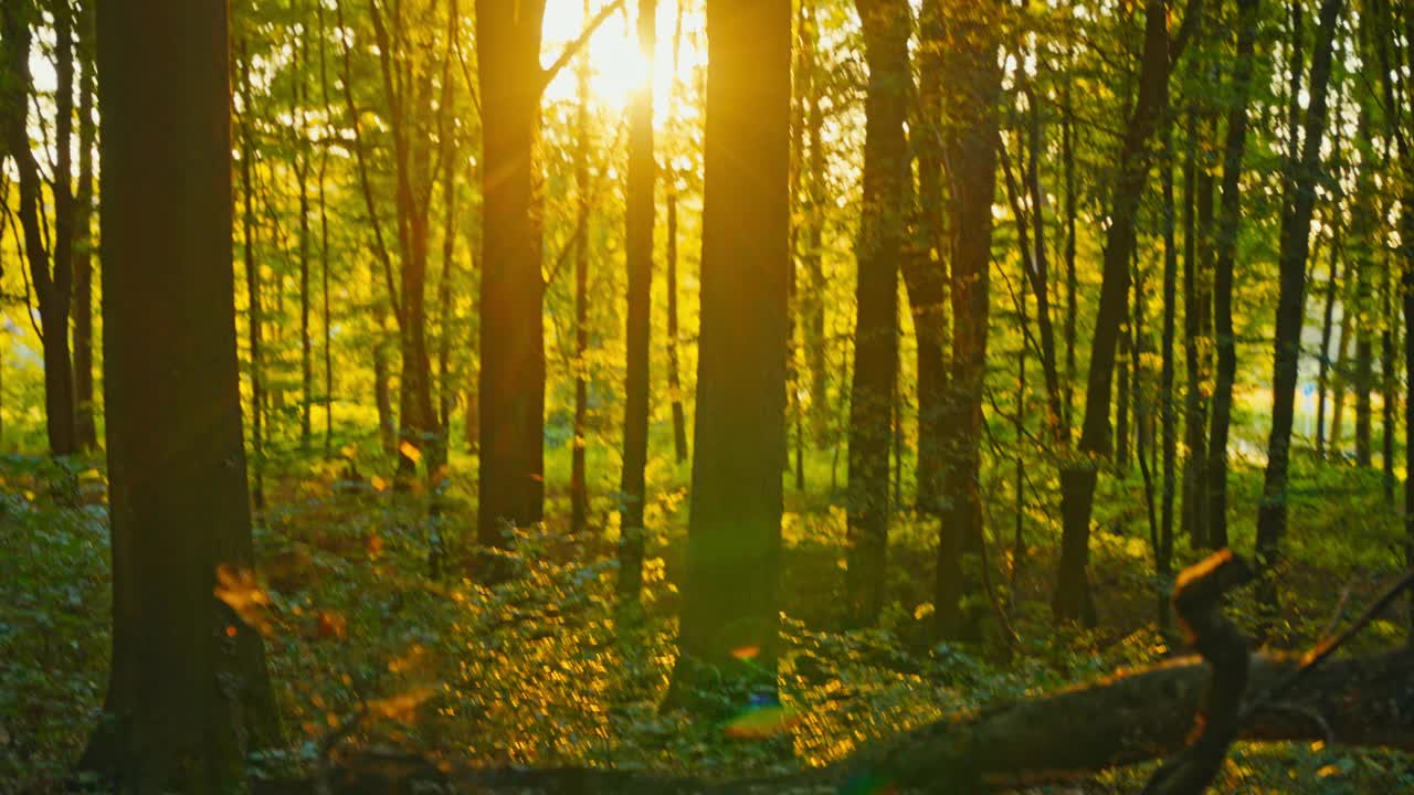
[[[1120,150],[1111,222],[1106,232],[1100,308],[1086,388],[1085,423],[1080,430],[1079,463],[1065,463],[1060,471],[1060,570],[1052,610],[1056,618],[1087,622],[1094,618],[1089,586],[1090,511],[1099,477],[1097,464],[1110,446],[1110,376],[1124,306],[1130,290],[1130,255],[1134,250],[1134,222],[1138,199],[1147,182],[1148,141],[1168,105],[1169,38],[1167,3],[1145,4],[1144,55],[1140,64],[1138,96]]]

